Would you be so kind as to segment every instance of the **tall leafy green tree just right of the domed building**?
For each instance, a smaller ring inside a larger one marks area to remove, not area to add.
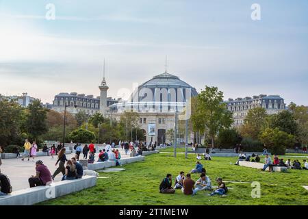
[[[211,145],[214,147],[214,139],[219,130],[231,127],[232,114],[223,103],[223,93],[216,87],[205,86],[197,96],[196,112],[192,114],[194,130],[205,132],[208,129],[211,137]]]

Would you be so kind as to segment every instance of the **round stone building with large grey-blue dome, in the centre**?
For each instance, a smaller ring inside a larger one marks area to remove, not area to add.
[[[175,112],[184,112],[186,101],[197,94],[188,83],[165,72],[138,86],[128,101],[111,105],[108,114],[120,120],[125,111],[137,112],[146,142],[159,145],[170,141],[166,132],[175,129]]]

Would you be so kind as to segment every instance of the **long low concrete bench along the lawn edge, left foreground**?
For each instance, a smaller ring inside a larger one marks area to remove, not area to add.
[[[96,184],[97,177],[84,176],[82,179],[65,180],[52,183],[51,185],[18,190],[6,196],[0,196],[0,205],[34,205],[42,201],[93,187]]]

